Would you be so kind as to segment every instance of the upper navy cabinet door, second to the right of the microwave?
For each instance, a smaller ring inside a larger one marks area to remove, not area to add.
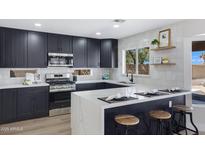
[[[87,39],[88,67],[100,67],[100,40]]]

